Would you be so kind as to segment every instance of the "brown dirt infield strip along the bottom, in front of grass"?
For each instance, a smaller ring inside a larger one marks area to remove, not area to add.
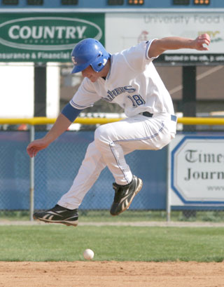
[[[0,262],[0,287],[223,287],[224,262]]]

